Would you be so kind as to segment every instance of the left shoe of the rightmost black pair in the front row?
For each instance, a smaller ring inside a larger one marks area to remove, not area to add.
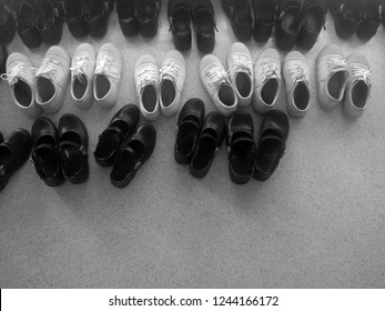
[[[235,183],[246,183],[254,174],[254,123],[247,111],[233,113],[227,124],[229,171]]]

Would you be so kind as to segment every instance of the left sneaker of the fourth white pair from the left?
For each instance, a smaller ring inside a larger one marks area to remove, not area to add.
[[[225,117],[237,108],[237,96],[227,72],[213,54],[205,56],[200,66],[201,81],[215,108]]]

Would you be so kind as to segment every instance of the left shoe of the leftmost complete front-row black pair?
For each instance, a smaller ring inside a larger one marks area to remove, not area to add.
[[[49,187],[58,187],[65,180],[59,157],[58,129],[48,118],[38,118],[31,130],[33,148],[32,163],[42,181]]]

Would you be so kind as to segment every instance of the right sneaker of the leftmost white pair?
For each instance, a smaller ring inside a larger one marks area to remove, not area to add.
[[[51,47],[37,70],[37,103],[48,113],[57,112],[63,104],[70,76],[70,59],[59,46]]]

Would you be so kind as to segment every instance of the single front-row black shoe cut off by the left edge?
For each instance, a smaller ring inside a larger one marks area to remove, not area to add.
[[[0,143],[0,191],[10,177],[28,160],[32,149],[32,139],[24,129],[17,129]]]

